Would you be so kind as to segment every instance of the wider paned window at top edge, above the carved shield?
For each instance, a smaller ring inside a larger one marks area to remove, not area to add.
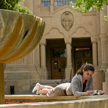
[[[76,0],[54,0],[54,5],[55,6],[65,6],[65,5],[70,5],[70,2],[75,3]]]

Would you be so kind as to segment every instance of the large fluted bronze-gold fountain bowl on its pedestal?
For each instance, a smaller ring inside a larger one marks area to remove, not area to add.
[[[42,18],[0,9],[0,104],[4,103],[4,64],[31,52],[38,45],[44,27]]]

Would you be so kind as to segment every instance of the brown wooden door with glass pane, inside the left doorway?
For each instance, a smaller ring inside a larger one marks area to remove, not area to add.
[[[52,79],[64,79],[66,67],[66,50],[64,48],[52,48],[51,55]]]

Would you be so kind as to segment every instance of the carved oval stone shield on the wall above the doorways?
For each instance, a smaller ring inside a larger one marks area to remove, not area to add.
[[[73,15],[71,12],[66,11],[61,15],[61,24],[66,31],[69,31],[73,25]]]

